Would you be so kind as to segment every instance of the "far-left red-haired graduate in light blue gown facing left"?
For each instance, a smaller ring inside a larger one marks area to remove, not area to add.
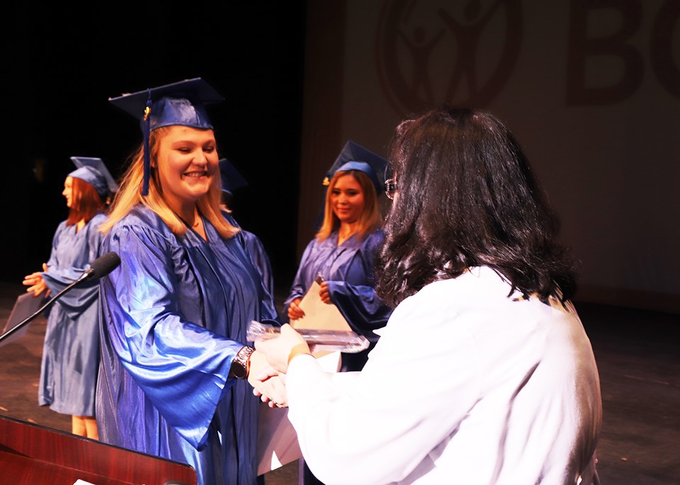
[[[57,295],[98,256],[106,203],[117,190],[101,159],[74,156],[64,181],[69,217],[52,239],[50,260],[23,284],[37,297]],[[50,307],[42,348],[38,404],[72,415],[72,433],[98,439],[94,396],[99,364],[98,282],[79,283]]]

